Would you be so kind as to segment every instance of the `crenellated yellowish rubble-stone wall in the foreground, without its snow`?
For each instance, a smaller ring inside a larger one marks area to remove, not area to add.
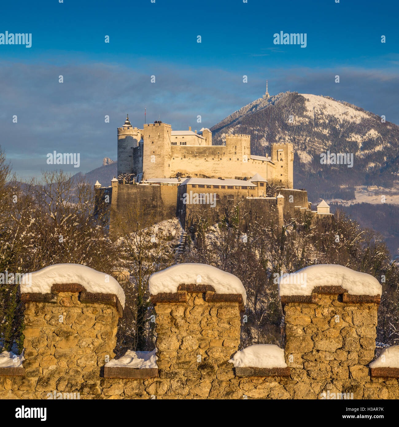
[[[103,369],[114,357],[122,314],[115,295],[65,284],[23,300],[25,371],[15,376],[0,369],[1,399],[57,393],[80,399],[399,398],[399,369],[372,377],[368,366],[375,358],[379,297],[349,295],[341,287],[282,297],[288,368],[271,369],[228,362],[239,348],[242,295],[216,294],[210,285],[182,284],[177,293],[152,295],[158,369]]]

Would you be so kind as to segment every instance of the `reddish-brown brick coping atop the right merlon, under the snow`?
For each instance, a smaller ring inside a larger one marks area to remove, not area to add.
[[[281,295],[281,304],[296,302],[317,304],[317,294],[342,295],[342,302],[348,304],[379,304],[381,302],[381,295],[351,295],[341,286],[316,286],[312,295]]]

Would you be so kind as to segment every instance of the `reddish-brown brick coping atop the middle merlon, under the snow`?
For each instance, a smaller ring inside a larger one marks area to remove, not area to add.
[[[187,302],[187,292],[205,294],[205,301],[207,302],[238,302],[240,311],[244,311],[241,294],[218,294],[213,286],[204,284],[180,284],[177,292],[160,292],[151,295],[151,302],[153,304]]]

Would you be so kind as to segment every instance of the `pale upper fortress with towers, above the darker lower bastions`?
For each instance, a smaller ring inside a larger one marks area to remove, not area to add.
[[[143,129],[118,128],[118,176],[134,174],[136,181],[151,178],[249,179],[256,173],[293,187],[294,150],[291,143],[271,144],[271,156],[251,154],[250,135],[226,135],[226,145],[212,145],[212,132],[174,131],[161,121]]]

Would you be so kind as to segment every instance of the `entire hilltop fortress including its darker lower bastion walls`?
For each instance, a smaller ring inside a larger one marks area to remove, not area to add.
[[[284,217],[305,213],[331,219],[326,202],[312,211],[307,192],[294,190],[293,161],[291,143],[272,143],[270,157],[255,156],[249,135],[226,135],[226,145],[212,145],[209,129],[172,131],[160,121],[137,129],[127,117],[118,128],[119,179],[111,187],[97,181],[95,188],[99,200],[110,202],[114,231],[116,216],[127,217],[137,207],[154,224],[178,217],[185,229],[204,218],[218,222],[239,202],[252,219],[270,216],[279,226]],[[268,181],[283,188],[268,197]]]

